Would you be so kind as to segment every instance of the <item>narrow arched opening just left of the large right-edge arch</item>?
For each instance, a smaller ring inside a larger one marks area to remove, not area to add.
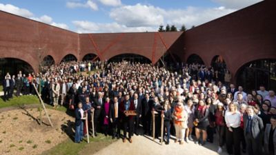
[[[214,56],[211,61],[211,66],[214,69],[215,74],[217,75],[217,80],[224,83],[224,75],[227,71],[224,58],[220,55]]]

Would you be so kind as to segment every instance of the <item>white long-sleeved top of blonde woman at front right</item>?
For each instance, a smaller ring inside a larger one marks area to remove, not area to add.
[[[240,112],[236,112],[235,114],[233,114],[233,112],[230,112],[229,110],[227,110],[225,112],[225,121],[226,121],[226,125],[230,126],[230,127],[239,127],[239,125],[241,124],[241,113]]]

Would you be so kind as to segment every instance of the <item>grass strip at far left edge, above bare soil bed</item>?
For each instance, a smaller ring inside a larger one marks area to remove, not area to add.
[[[3,107],[15,107],[20,105],[30,105],[37,103],[39,104],[39,98],[34,95],[26,95],[26,96],[14,96],[10,101],[4,102],[2,98],[0,98],[0,108]]]

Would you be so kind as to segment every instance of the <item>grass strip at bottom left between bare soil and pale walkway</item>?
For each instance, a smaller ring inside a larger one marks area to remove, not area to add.
[[[102,149],[103,147],[106,147],[110,143],[116,141],[112,140],[109,136],[104,136],[103,134],[99,134],[95,138],[90,137],[89,140],[89,144],[86,142],[86,138],[81,143],[74,143],[72,139],[68,138],[63,143],[59,143],[55,147],[43,152],[41,155],[82,155],[82,152],[85,152],[85,154],[87,154],[87,152],[93,154],[97,152],[97,150]],[[90,148],[92,148],[92,150],[86,150]]]

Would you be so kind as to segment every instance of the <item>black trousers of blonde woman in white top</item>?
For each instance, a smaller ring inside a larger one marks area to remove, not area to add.
[[[226,149],[228,154],[233,154],[233,147],[234,147],[234,154],[240,155],[240,136],[241,130],[239,127],[231,127],[233,132],[230,132],[228,127],[226,128]]]

